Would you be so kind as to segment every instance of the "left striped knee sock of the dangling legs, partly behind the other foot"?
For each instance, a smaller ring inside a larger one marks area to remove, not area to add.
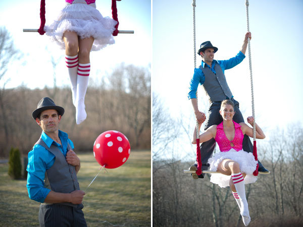
[[[65,55],[65,62],[68,68],[68,74],[71,80],[71,90],[73,104],[75,105],[77,96],[77,71],[78,71],[78,54],[76,56]]]

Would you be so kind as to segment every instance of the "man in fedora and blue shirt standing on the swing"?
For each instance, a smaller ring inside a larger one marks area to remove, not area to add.
[[[190,91],[188,93],[188,99],[191,100],[191,104],[194,110],[196,120],[199,123],[203,123],[206,119],[205,115],[198,110],[196,91],[198,85],[201,84],[206,91],[206,94],[210,101],[210,107],[208,112],[208,119],[205,123],[205,130],[210,126],[220,124],[222,122],[222,116],[219,114],[221,102],[226,99],[230,99],[235,104],[235,115],[233,117],[234,121],[237,123],[244,122],[243,116],[239,110],[239,103],[234,100],[233,95],[227,85],[226,78],[224,75],[224,70],[230,69],[245,58],[245,52],[248,40],[251,39],[251,33],[247,32],[245,34],[244,42],[241,50],[235,56],[229,60],[214,60],[214,55],[218,48],[214,47],[210,41],[206,41],[200,45],[198,54],[202,57],[202,63],[198,68],[194,69],[193,77],[190,81]],[[202,170],[207,170],[209,168],[207,162],[211,158],[216,141],[215,139],[210,139],[207,142],[203,142],[200,145]],[[243,150],[252,153],[252,143],[247,135],[243,138]],[[197,162],[196,162],[197,163]],[[189,170],[197,170],[197,164],[194,164],[189,168]],[[263,165],[258,161],[259,172],[268,173],[269,171],[263,167]],[[192,174],[194,179],[204,178],[205,174],[197,175]]]

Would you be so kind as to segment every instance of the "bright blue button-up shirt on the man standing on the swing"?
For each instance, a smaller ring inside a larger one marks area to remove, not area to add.
[[[241,61],[245,58],[245,55],[239,51],[235,57],[232,57],[228,60],[213,60],[212,61],[212,67],[210,67],[208,64],[206,64],[204,61],[202,61],[201,65],[202,67],[209,67],[215,74],[215,64],[219,64],[222,68],[222,71],[224,73],[225,69],[230,69],[237,64],[241,63]],[[193,77],[190,81],[189,86],[189,93],[188,93],[188,99],[196,99],[196,91],[198,88],[198,85],[203,85],[205,82],[205,75],[204,72],[200,68],[195,68]]]

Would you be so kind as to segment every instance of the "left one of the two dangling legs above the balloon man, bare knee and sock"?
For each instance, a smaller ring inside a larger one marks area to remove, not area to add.
[[[77,71],[78,71],[78,35],[76,32],[66,31],[63,34],[65,43],[65,62],[71,80],[73,104],[77,96]]]

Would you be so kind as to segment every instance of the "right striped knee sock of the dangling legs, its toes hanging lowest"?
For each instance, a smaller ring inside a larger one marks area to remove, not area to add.
[[[76,98],[76,122],[80,124],[86,119],[84,98],[87,90],[88,79],[90,72],[90,63],[78,65],[78,78],[77,78],[77,98]]]

